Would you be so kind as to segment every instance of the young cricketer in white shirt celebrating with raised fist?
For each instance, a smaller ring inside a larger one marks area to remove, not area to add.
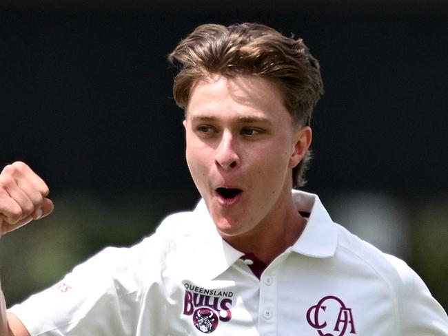
[[[8,317],[3,301],[1,335],[448,335],[416,273],[332,222],[316,195],[292,190],[323,92],[300,39],[202,25],[170,60],[181,65],[174,97],[202,200]],[[52,211],[25,164],[6,167],[0,185],[3,233]]]

